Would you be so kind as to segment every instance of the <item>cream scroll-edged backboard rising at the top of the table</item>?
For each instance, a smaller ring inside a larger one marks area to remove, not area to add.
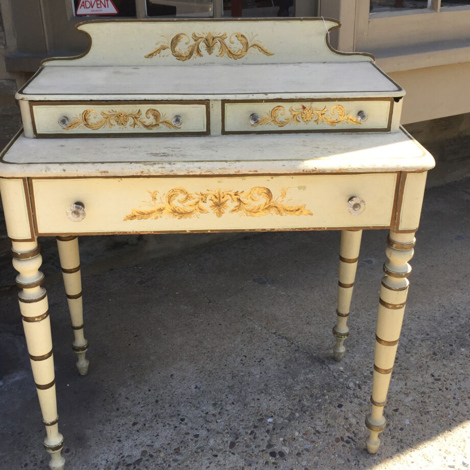
[[[45,62],[45,65],[187,66],[193,62],[234,65],[309,62],[312,59],[317,62],[371,61],[368,56],[339,55],[328,48],[327,31],[338,25],[336,20],[329,18],[93,21],[81,23],[77,28],[87,33],[91,41],[90,50],[84,57],[72,60],[70,64],[59,59]],[[208,33],[216,38],[215,44],[210,39],[206,44],[202,43],[200,56],[194,54],[190,59],[182,61],[170,49],[165,49],[153,57],[146,57],[160,46],[170,45],[176,34],[185,35],[175,48],[184,54],[195,42],[193,35],[206,38]],[[222,55],[219,41],[223,41],[234,52],[243,50],[243,44],[237,38],[240,34],[248,40],[248,46],[258,43],[269,55],[260,52],[259,48],[249,48],[246,54],[237,59],[231,58],[229,54]]]

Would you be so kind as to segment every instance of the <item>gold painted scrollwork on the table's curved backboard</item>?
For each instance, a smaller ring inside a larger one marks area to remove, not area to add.
[[[193,56],[202,57],[203,54],[201,51],[201,46],[206,50],[209,55],[211,55],[218,48],[219,52],[217,53],[217,57],[227,56],[229,59],[241,59],[247,54],[250,49],[256,49],[257,51],[263,53],[266,56],[274,55],[274,53],[269,52],[259,42],[252,42],[254,38],[249,41],[248,38],[242,33],[231,34],[229,38],[230,44],[235,44],[233,36],[235,36],[238,42],[240,43],[239,49],[236,49],[236,45],[232,47],[225,42],[225,40],[227,39],[227,33],[207,33],[205,36],[193,33],[192,38],[194,42],[192,44],[190,44],[191,40],[189,36],[187,36],[187,34],[178,33],[173,36],[171,40],[168,39],[166,42],[157,42],[158,47],[149,54],[147,54],[145,57],[147,59],[151,59],[152,57],[155,57],[161,52],[169,49],[174,57],[176,57],[178,60],[185,61],[191,59]],[[181,51],[177,49],[177,47],[178,44],[184,38],[186,38],[185,44],[187,45],[187,48],[185,51]]]

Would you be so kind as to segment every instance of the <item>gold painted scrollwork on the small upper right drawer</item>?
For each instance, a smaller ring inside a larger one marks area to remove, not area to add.
[[[279,119],[279,116],[284,116],[286,114],[286,108],[284,106],[274,106],[268,115],[262,117],[260,122],[257,124],[251,124],[251,126],[262,126],[263,124],[274,124],[277,127],[287,126],[289,123],[300,124],[300,123],[310,123],[314,122],[316,124],[325,123],[329,126],[336,126],[342,122],[347,122],[350,124],[362,124],[356,117],[347,115],[343,106],[337,104],[331,108],[330,114],[328,116],[328,108],[325,106],[323,109],[312,109],[311,106],[304,106],[300,109],[294,109],[292,106],[289,108],[290,116],[286,118]],[[334,116],[336,114],[336,117]]]

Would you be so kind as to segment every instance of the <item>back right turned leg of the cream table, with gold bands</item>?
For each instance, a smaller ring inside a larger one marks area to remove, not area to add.
[[[339,276],[338,276],[338,309],[336,310],[336,325],[333,335],[336,344],[333,347],[335,361],[341,361],[346,351],[344,340],[349,335],[346,325],[349,316],[351,297],[353,296],[354,279],[358,267],[359,249],[361,247],[362,230],[343,230],[341,232],[341,245],[339,250]]]

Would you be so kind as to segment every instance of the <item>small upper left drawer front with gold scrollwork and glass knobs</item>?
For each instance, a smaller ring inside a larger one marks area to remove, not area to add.
[[[207,135],[208,102],[31,102],[37,137]]]

